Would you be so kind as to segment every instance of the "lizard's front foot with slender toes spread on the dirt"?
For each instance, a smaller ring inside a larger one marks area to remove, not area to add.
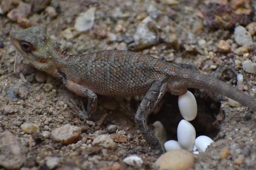
[[[73,99],[70,99],[70,102],[68,103],[68,105],[70,106],[71,109],[75,110],[73,112],[74,115],[78,116],[82,120],[89,119],[90,116],[87,113],[87,111],[85,111],[84,104],[81,100],[80,100],[80,103],[81,103],[82,110],[79,109],[78,105]]]

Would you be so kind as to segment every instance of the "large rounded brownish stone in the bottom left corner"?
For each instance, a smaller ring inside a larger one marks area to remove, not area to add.
[[[9,131],[0,133],[0,166],[16,170],[24,161],[25,155],[17,138]]]

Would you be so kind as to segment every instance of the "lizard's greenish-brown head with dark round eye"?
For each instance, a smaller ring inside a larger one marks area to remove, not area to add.
[[[52,68],[61,54],[57,42],[37,26],[14,32],[10,37],[17,51],[39,70]]]

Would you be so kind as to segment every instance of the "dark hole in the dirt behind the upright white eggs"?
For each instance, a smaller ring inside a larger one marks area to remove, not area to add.
[[[189,121],[196,130],[196,136],[206,135],[214,139],[219,131],[218,124],[215,123],[216,115],[220,111],[220,103],[214,102],[211,98],[200,98],[200,92],[189,89],[196,98],[198,104],[198,114],[193,121]],[[196,92],[196,93],[194,93]],[[177,140],[177,126],[183,117],[178,107],[178,96],[166,93],[160,103],[158,114],[152,113],[148,117],[148,125],[159,120],[165,127],[168,140]]]

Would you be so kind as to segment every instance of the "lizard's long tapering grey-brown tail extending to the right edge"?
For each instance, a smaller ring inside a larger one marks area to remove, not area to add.
[[[247,106],[256,112],[256,101],[252,96],[239,91],[238,88],[233,87],[232,85],[229,85],[207,74],[185,69],[183,71],[184,73],[181,75],[186,76],[184,78],[188,81],[188,88],[199,88],[222,94],[233,100],[236,100],[237,102],[240,102],[242,105]]]

